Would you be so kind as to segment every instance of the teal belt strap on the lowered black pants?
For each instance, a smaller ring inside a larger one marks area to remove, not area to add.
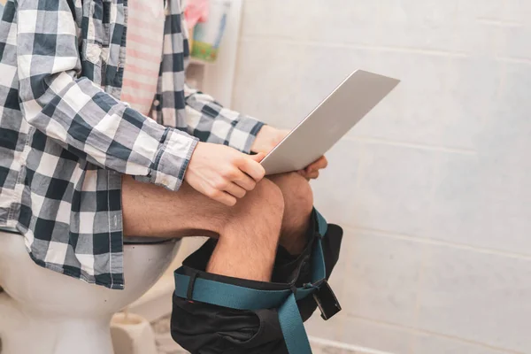
[[[296,300],[311,295],[326,278],[325,259],[321,237],[327,234],[327,220],[319,212],[317,215],[320,237],[316,239],[312,250],[312,282],[307,288],[298,288],[295,292],[286,290],[259,290],[237,285],[196,278],[190,300],[206,304],[215,304],[235,310],[279,309],[279,322],[289,354],[312,353],[308,335],[304,330]],[[183,268],[175,271],[175,296],[188,298],[190,277],[183,274]]]

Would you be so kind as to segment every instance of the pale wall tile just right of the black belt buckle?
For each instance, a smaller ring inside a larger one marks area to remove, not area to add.
[[[362,231],[349,231],[347,236],[345,312],[413,326],[425,245]]]

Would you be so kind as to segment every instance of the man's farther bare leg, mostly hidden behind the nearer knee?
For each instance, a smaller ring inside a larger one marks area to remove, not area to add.
[[[284,215],[280,244],[291,254],[299,254],[306,245],[306,230],[313,208],[310,183],[298,173],[282,173],[270,176],[282,192]]]

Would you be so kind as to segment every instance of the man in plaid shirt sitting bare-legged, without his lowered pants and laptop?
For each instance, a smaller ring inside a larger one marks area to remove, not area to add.
[[[209,235],[208,272],[269,281],[304,248],[326,159],[265,179],[285,132],[184,86],[184,28],[180,0],[7,2],[0,226],[38,265],[123,289],[123,236]]]

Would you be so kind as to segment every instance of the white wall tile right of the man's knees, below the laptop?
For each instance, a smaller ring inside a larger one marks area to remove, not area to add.
[[[358,188],[341,201],[351,213],[349,225],[418,235],[426,227],[440,158],[438,151],[366,143]]]

